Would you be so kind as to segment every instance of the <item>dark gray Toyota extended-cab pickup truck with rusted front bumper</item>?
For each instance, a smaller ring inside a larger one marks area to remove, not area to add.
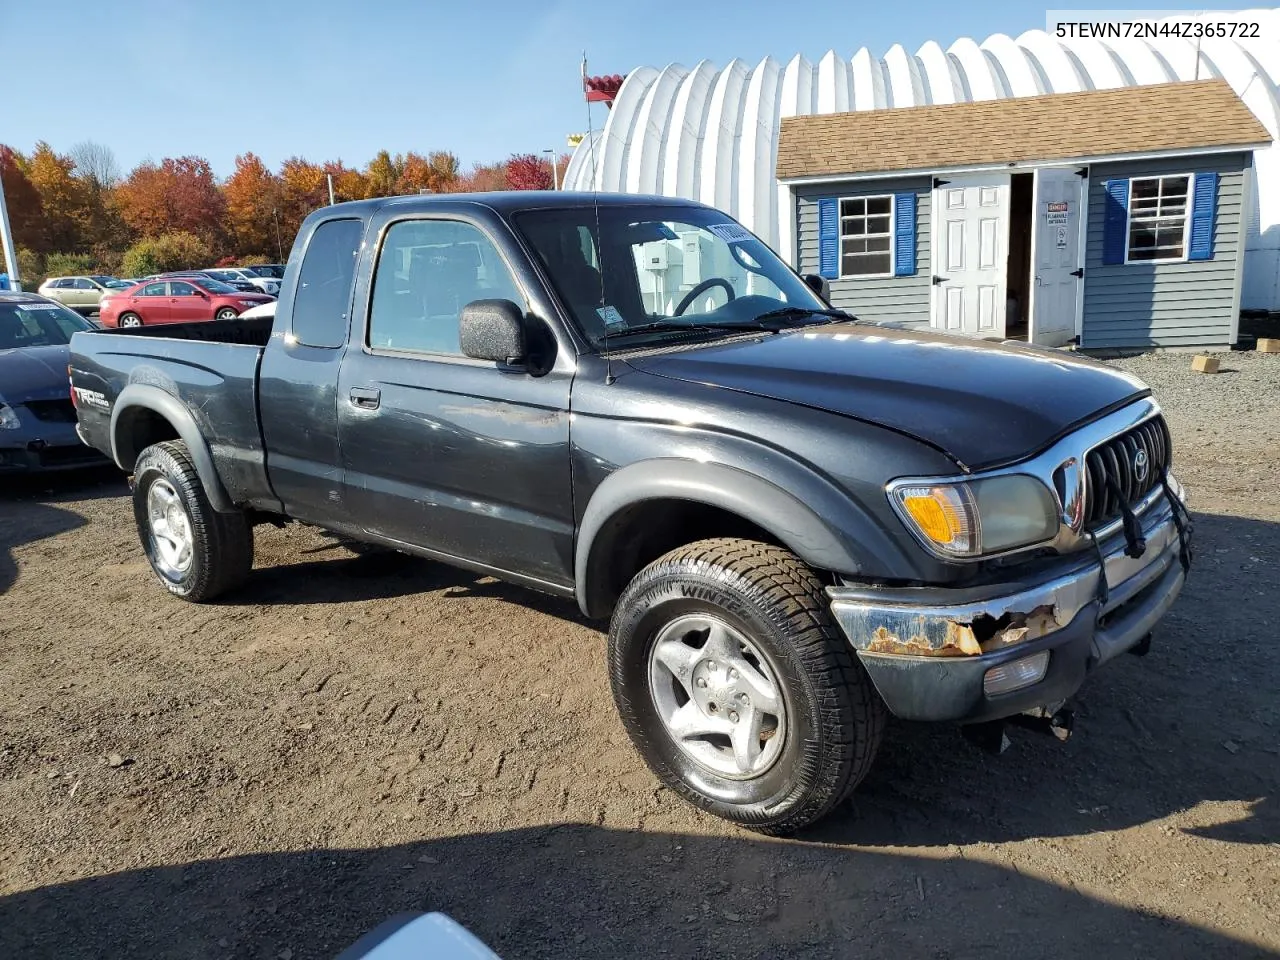
[[[823,294],[698,204],[339,204],[274,323],[78,333],[72,385],[173,594],[293,520],[575,598],[654,773],[785,833],[888,713],[1064,727],[1190,557],[1142,383]]]

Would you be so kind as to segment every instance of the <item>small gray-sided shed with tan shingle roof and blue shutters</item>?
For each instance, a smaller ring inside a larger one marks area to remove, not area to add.
[[[1222,347],[1267,143],[1217,79],[786,118],[780,247],[867,320]]]

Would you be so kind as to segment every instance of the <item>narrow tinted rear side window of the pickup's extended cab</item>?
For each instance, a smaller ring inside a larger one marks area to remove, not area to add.
[[[293,294],[293,335],[308,347],[347,342],[351,282],[364,233],[361,220],[325,220],[307,243]]]

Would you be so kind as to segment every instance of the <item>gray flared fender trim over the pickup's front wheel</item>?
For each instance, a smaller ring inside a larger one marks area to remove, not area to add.
[[[600,588],[612,518],[645,500],[691,500],[735,513],[768,531],[815,570],[856,576],[868,567],[908,570],[910,562],[847,493],[796,468],[787,488],[723,463],[657,458],[609,474],[591,494],[575,545],[576,593],[588,617],[608,611]]]

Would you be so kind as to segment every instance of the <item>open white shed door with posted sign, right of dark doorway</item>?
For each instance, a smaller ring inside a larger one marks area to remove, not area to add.
[[[1032,204],[1030,342],[1060,347],[1076,334],[1084,293],[1085,179],[1078,168],[1036,172]]]

